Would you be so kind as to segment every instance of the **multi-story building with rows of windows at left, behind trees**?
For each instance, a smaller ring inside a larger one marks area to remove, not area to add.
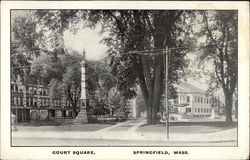
[[[43,84],[23,84],[20,76],[11,82],[11,112],[18,123],[35,119],[72,116],[72,104],[66,97],[52,99]]]

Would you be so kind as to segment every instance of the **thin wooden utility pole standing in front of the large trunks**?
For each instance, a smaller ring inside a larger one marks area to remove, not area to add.
[[[166,129],[167,139],[169,139],[169,107],[168,107],[168,46],[166,47],[166,66],[165,66],[165,94],[166,94]]]

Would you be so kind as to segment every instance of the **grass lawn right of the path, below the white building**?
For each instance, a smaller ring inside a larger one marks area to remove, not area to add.
[[[211,133],[222,130],[235,128],[237,123],[231,126],[225,125],[224,122],[170,122],[169,132],[171,133]],[[137,129],[138,132],[147,133],[164,133],[166,124],[143,125]]]

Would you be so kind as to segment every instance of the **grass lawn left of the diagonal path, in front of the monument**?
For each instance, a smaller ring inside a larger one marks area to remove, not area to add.
[[[57,126],[17,126],[18,131],[34,132],[91,132],[112,126],[112,123],[88,123],[81,125],[57,125]]]

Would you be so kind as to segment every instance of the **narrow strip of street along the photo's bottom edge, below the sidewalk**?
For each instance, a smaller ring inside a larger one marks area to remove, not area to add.
[[[146,141],[113,139],[72,139],[72,138],[15,138],[13,146],[235,146],[228,142],[182,142],[182,141]]]

